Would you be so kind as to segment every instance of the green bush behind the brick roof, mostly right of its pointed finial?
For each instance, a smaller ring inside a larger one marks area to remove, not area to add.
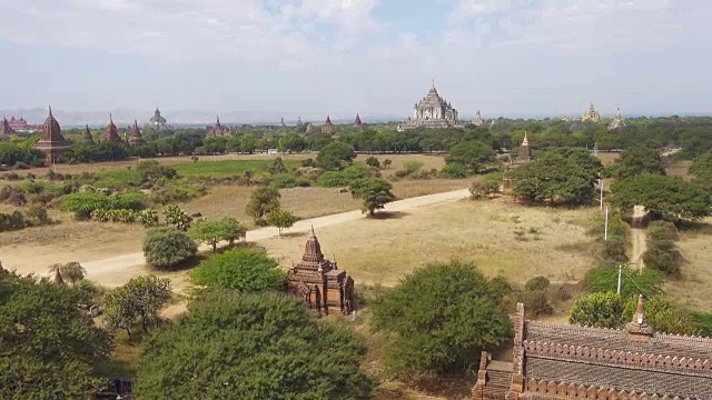
[[[630,297],[630,300],[625,302],[625,308],[623,309],[624,321],[633,320],[636,307],[637,297]],[[673,304],[671,299],[664,294],[646,298],[644,312],[647,323],[657,332],[689,336],[698,336],[701,333],[702,327],[695,321],[693,313]]]

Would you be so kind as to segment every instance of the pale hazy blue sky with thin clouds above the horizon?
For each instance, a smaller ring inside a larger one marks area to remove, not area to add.
[[[709,0],[0,0],[0,109],[712,113]]]

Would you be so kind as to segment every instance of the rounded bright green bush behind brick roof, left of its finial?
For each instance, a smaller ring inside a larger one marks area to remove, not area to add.
[[[568,314],[568,323],[593,328],[621,328],[625,301],[614,292],[595,292],[582,297]]]

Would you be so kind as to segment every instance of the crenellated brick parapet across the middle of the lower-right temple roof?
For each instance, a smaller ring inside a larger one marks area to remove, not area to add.
[[[563,357],[571,359],[597,360],[630,364],[632,367],[654,367],[679,369],[686,371],[712,371],[712,360],[693,359],[686,357],[656,356],[630,351],[609,350],[592,347],[547,343],[542,341],[523,342],[526,354],[542,357]]]

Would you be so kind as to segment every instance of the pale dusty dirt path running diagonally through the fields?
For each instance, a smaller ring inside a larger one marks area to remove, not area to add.
[[[384,211],[395,212],[395,211],[409,211],[417,208],[423,207],[433,207],[442,203],[447,203],[452,201],[456,201],[469,196],[467,189],[455,190],[444,193],[436,193],[429,196],[422,196],[405,200],[398,200],[390,204],[387,204]],[[322,227],[334,226],[343,222],[354,221],[359,218],[364,218],[360,211],[348,211],[336,213],[332,216],[312,218],[303,221],[298,221],[294,224],[293,228],[287,230],[288,232],[307,232],[312,227],[315,229]],[[268,227],[256,229],[247,232],[247,241],[257,241],[267,238],[277,237],[278,230],[277,228]],[[201,251],[208,251],[209,247],[201,247]],[[136,278],[138,276],[145,274],[148,272],[146,268],[146,262],[144,260],[142,252],[132,252],[119,257],[108,258],[103,260],[87,260],[81,261],[82,254],[77,254],[77,260],[85,267],[87,270],[87,278],[96,281],[106,287],[117,287],[121,286],[131,278]],[[23,263],[22,260],[16,262],[12,266],[6,266],[9,269],[17,269],[19,273],[37,273],[39,276],[47,276],[47,267],[38,266],[37,263],[28,260],[27,263]],[[180,290],[182,287],[182,273],[176,272],[171,273],[169,278],[174,281],[174,288]]]

